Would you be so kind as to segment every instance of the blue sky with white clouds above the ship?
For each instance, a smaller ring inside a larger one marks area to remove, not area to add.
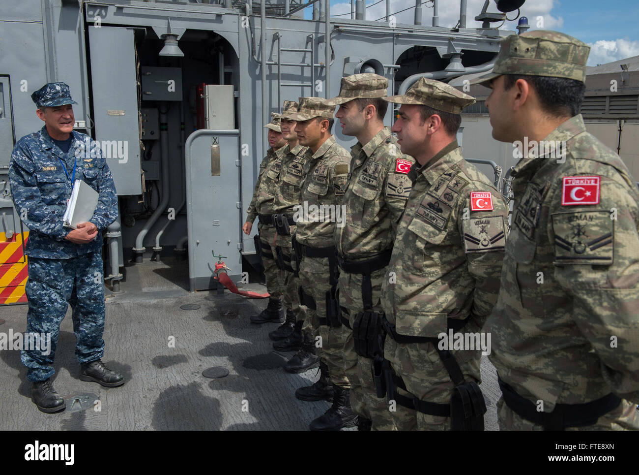
[[[374,6],[377,0],[367,0],[367,19],[376,20],[386,12],[385,1]],[[390,0],[391,12],[413,7],[414,0]],[[468,0],[468,27],[479,26],[475,15],[479,14],[484,0]],[[422,23],[431,24],[433,9],[428,1],[422,5]],[[350,12],[350,0],[330,0],[331,15]],[[491,0],[489,12],[497,12]],[[533,29],[535,19],[543,17],[544,27],[574,36],[590,45],[588,64],[608,63],[629,56],[639,55],[639,2],[636,0],[527,0],[521,8]],[[305,17],[312,16],[312,8],[306,8]],[[414,10],[397,15],[397,22],[413,21]],[[440,0],[440,24],[454,26],[459,17],[458,0]],[[514,17],[513,13],[509,17]],[[347,15],[343,18],[349,18]],[[508,22],[502,28],[514,29],[516,22]]]

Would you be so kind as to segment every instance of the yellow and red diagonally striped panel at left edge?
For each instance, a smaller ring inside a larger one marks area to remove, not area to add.
[[[28,238],[29,232],[17,232],[10,239],[6,238],[4,232],[0,232],[0,305],[27,302],[24,290],[27,284],[24,244]]]

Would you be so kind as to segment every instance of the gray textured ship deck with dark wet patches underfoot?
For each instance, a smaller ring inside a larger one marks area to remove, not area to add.
[[[103,361],[125,375],[122,387],[79,380],[70,310],[61,325],[54,364],[54,386],[67,399],[65,412],[38,411],[20,351],[0,351],[0,430],[307,430],[312,419],[330,407],[325,401],[295,398],[295,389],[314,382],[317,370],[286,373],[282,365],[293,353],[273,351],[268,338],[277,325],[249,323],[266,299],[228,291],[223,296],[215,291],[189,293],[184,264],[170,264],[146,262],[128,268],[124,292],[107,298]],[[266,292],[259,284],[244,288]],[[181,310],[187,303],[200,308]],[[26,312],[26,305],[0,309],[6,320],[0,332],[24,332]],[[226,367],[229,375],[202,375],[215,366]],[[495,430],[500,391],[495,369],[485,357],[482,379],[490,401],[486,429]],[[100,399],[99,411],[93,407],[95,399]],[[81,403],[89,408],[80,409]]]

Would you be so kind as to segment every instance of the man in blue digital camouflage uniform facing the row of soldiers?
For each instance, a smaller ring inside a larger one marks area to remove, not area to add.
[[[40,348],[25,349],[21,359],[27,379],[33,382],[31,400],[43,412],[58,412],[65,409],[65,401],[49,378],[55,373],[52,365],[60,323],[69,303],[80,379],[106,387],[124,383],[121,374],[100,360],[105,304],[99,234],[118,216],[118,197],[99,145],[73,131],[72,104],[77,102],[71,99],[69,86],[48,83],[31,99],[45,125],[15,144],[9,181],[15,209],[29,228],[26,332],[50,335],[50,352],[43,355]],[[63,226],[63,215],[75,179],[86,182],[99,197],[91,219],[70,230]]]

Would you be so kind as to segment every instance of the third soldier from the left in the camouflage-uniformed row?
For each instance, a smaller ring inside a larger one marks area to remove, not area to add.
[[[287,364],[289,371],[319,366],[328,368],[333,385],[333,405],[311,423],[311,430],[339,430],[353,426],[356,415],[349,403],[350,384],[344,373],[343,350],[346,331],[337,312],[337,262],[333,234],[340,225],[342,197],[348,174],[348,152],[330,133],[335,106],[324,99],[301,97],[295,131],[305,153],[302,205],[295,213],[297,229],[293,236],[300,275],[300,301],[308,307],[302,330],[304,346]],[[336,222],[337,221],[337,222]],[[342,223],[343,224],[343,223]],[[319,358],[313,354],[318,342]],[[313,387],[298,390],[298,396]]]

